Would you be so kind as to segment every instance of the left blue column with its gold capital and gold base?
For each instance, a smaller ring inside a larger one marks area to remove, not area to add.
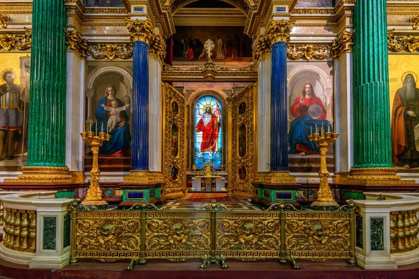
[[[126,20],[133,40],[131,172],[126,183],[149,182],[149,46],[156,35],[152,21]]]

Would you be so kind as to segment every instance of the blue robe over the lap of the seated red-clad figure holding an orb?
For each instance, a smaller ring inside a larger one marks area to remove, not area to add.
[[[297,152],[295,146],[297,143],[305,144],[309,146],[310,149],[313,149],[316,152],[320,151],[315,142],[310,142],[309,135],[315,133],[316,124],[318,128],[318,133],[321,133],[321,124],[323,123],[324,132],[328,131],[328,126],[330,126],[330,132],[333,132],[332,126],[327,120],[316,120],[312,119],[309,115],[304,115],[297,117],[291,122],[290,132],[288,134],[288,143],[290,144],[289,154],[294,154]]]

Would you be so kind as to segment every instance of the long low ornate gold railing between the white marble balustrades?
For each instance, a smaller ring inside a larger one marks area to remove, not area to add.
[[[200,258],[205,268],[214,262],[228,267],[226,258],[273,258],[300,268],[294,257],[355,263],[355,213],[348,205],[335,211],[298,210],[289,204],[266,211],[233,211],[215,203],[184,211],[152,204],[88,211],[79,205],[71,214],[71,263],[132,259],[132,268],[147,259]]]

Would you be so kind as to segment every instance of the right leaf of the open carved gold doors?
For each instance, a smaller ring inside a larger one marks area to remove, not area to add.
[[[253,110],[254,102],[253,96],[256,90],[255,84],[247,86],[245,89],[235,94],[231,98],[232,102],[232,185],[233,195],[240,195],[243,197],[253,197],[253,185],[251,184],[254,179],[253,174],[253,146],[254,146],[254,133],[253,133]],[[245,104],[245,110],[240,114],[240,105]],[[241,126],[246,127],[246,151],[244,156],[240,156],[239,152],[239,129]],[[241,170],[240,170],[241,169]],[[245,169],[245,172],[244,172]],[[240,178],[240,172],[242,178]]]

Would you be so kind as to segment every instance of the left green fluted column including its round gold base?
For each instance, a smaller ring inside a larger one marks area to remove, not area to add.
[[[34,0],[27,165],[18,182],[67,182],[66,29],[62,0]]]

